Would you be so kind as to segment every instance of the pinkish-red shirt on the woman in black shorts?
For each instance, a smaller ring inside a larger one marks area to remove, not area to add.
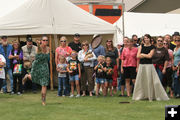
[[[123,49],[121,55],[121,60],[124,61],[123,67],[137,67],[137,52],[138,48],[136,47]]]

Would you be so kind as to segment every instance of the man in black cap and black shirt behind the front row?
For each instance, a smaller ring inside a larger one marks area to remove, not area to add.
[[[81,43],[79,40],[80,40],[80,34],[78,33],[74,34],[74,41],[70,42],[68,46],[71,47],[72,50],[79,52],[81,50]]]

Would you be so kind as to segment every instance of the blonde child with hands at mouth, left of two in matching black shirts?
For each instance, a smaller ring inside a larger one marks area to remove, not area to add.
[[[98,64],[94,67],[94,70],[96,71],[96,96],[99,95],[99,89],[100,87],[102,87],[102,91],[103,91],[103,95],[105,95],[105,91],[104,91],[104,83],[105,83],[105,76],[104,76],[104,61],[105,61],[105,57],[100,55],[98,56]]]

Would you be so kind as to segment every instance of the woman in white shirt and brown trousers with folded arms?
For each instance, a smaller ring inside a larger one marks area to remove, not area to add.
[[[89,44],[87,41],[82,43],[82,50],[78,53],[78,60],[83,63],[84,72],[82,73],[81,80],[81,90],[83,91],[82,96],[86,96],[86,84],[88,83],[88,91],[89,96],[92,96],[92,91],[94,90],[94,79],[93,75],[93,67],[94,60],[96,60],[96,56],[94,52],[89,50]]]

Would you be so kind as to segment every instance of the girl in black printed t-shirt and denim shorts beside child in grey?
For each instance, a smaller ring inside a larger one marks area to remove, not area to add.
[[[80,97],[80,85],[79,85],[79,78],[81,78],[81,68],[80,62],[77,60],[77,52],[72,51],[71,59],[68,61],[67,71],[69,72],[69,81],[71,84],[71,92],[72,94],[70,97],[74,97],[74,82],[76,84],[77,89],[77,96]]]

